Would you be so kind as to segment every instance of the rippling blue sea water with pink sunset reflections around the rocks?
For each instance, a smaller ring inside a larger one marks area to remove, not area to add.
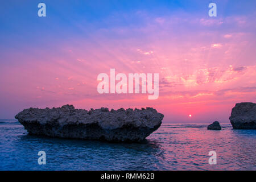
[[[0,170],[256,170],[256,130],[209,124],[163,123],[144,143],[108,143],[36,137],[16,120],[0,120]],[[208,163],[209,151],[217,164]]]

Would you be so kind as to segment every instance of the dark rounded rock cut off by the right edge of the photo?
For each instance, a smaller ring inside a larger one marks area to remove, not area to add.
[[[233,129],[256,129],[256,104],[237,103],[229,117]]]

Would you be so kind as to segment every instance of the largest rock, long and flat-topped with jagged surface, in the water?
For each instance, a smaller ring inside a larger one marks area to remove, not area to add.
[[[49,137],[141,142],[157,130],[164,115],[155,109],[75,109],[73,105],[24,109],[15,116],[30,134]]]

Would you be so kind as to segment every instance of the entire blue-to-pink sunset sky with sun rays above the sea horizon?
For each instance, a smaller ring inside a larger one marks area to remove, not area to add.
[[[46,4],[46,17],[38,4]],[[209,3],[217,5],[210,17]],[[255,1],[3,1],[0,119],[28,107],[154,107],[163,122],[228,123],[256,102]],[[100,94],[100,73],[159,73],[159,97]],[[189,117],[189,114],[192,117]]]

